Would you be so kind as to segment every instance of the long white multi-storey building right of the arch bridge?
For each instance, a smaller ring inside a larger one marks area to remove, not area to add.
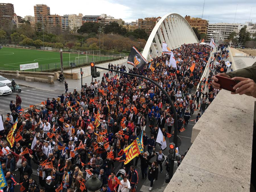
[[[222,38],[226,40],[232,31],[238,30],[238,26],[238,23],[209,23],[207,30],[207,42],[210,42],[212,37],[214,39],[216,38],[214,36],[211,36],[210,34],[217,35],[217,32],[214,31],[218,30],[220,30],[220,33],[222,33]]]

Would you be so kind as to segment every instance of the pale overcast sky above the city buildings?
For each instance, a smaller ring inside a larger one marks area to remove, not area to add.
[[[167,13],[201,18],[204,0],[82,0],[74,1],[74,3],[54,0],[7,0],[7,2],[13,3],[15,13],[22,17],[25,15],[34,16],[34,5],[46,4],[50,7],[51,14],[100,15],[104,13],[115,18],[122,18],[125,22],[131,22],[138,18],[163,16]],[[256,22],[256,0],[205,1],[203,19],[209,20],[209,23],[233,23],[234,20],[238,23],[244,23],[249,21],[249,18],[253,23]]]

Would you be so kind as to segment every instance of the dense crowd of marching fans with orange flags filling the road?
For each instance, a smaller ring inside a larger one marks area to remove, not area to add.
[[[129,73],[149,77],[166,90],[175,105],[181,132],[195,111],[198,121],[218,93],[212,87],[212,76],[214,71],[225,68],[219,57],[228,57],[228,52],[223,49],[210,58],[209,76],[202,81],[210,47],[184,44],[173,53],[177,69],[166,65],[169,55],[162,55],[153,58],[142,71],[133,67]],[[191,71],[193,64],[195,69]],[[149,65],[154,69],[149,69]],[[126,71],[123,65],[109,68]],[[16,185],[21,185],[20,190],[25,192],[51,192],[58,191],[62,185],[64,192],[83,192],[87,190],[83,183],[94,175],[102,181],[101,191],[128,192],[136,190],[140,182],[138,169],[142,179],[150,181],[151,190],[158,173],[164,171],[162,164],[166,165],[168,176],[168,158],[161,149],[155,150],[158,131],[164,137],[170,137],[174,131],[173,112],[166,96],[145,79],[118,73],[110,75],[104,73],[101,82],[92,80],[80,91],[62,94],[59,100],[47,98],[42,107],[30,106],[26,112],[20,108],[18,95],[16,105],[11,101],[11,113],[7,114],[1,134],[1,161],[7,180],[4,191],[13,192]],[[209,93],[203,90],[206,82]],[[16,119],[15,143],[11,147],[7,135]],[[124,149],[141,137],[142,130],[144,152],[124,164]],[[38,166],[39,183],[32,176],[32,164]],[[115,173],[114,166],[121,169]]]

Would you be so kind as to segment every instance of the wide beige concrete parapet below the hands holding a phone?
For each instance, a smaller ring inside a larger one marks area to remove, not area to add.
[[[255,101],[219,92],[193,127],[198,135],[166,192],[250,191]]]

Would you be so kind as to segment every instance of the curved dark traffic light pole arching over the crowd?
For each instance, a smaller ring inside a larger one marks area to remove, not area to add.
[[[123,72],[123,71],[117,71],[117,70],[113,70],[113,69],[107,69],[107,68],[104,68],[104,67],[95,66],[95,68],[103,69],[103,70],[107,70],[107,71],[113,71],[113,72],[117,72],[117,73],[123,73],[123,74],[126,74],[126,75],[130,75],[130,76],[146,79],[146,80],[150,81],[151,83],[153,83],[155,86],[157,86],[163,92],[163,94],[166,96],[168,102],[171,105],[171,110],[173,112],[173,117],[174,117],[174,144],[175,144],[175,146],[177,146],[178,117],[177,117],[177,113],[176,113],[174,104],[172,103],[172,100],[171,100],[170,96],[167,94],[167,92],[164,90],[164,88],[162,88],[157,82],[155,82],[152,79],[149,79],[148,77],[144,77],[144,76],[133,74],[133,73],[126,73],[126,72]],[[161,131],[161,130],[158,130],[158,131]],[[175,153],[174,153],[174,157],[175,157]],[[169,179],[171,179],[172,176],[173,176],[173,170],[174,170],[174,160],[171,161],[170,171],[169,171]]]

